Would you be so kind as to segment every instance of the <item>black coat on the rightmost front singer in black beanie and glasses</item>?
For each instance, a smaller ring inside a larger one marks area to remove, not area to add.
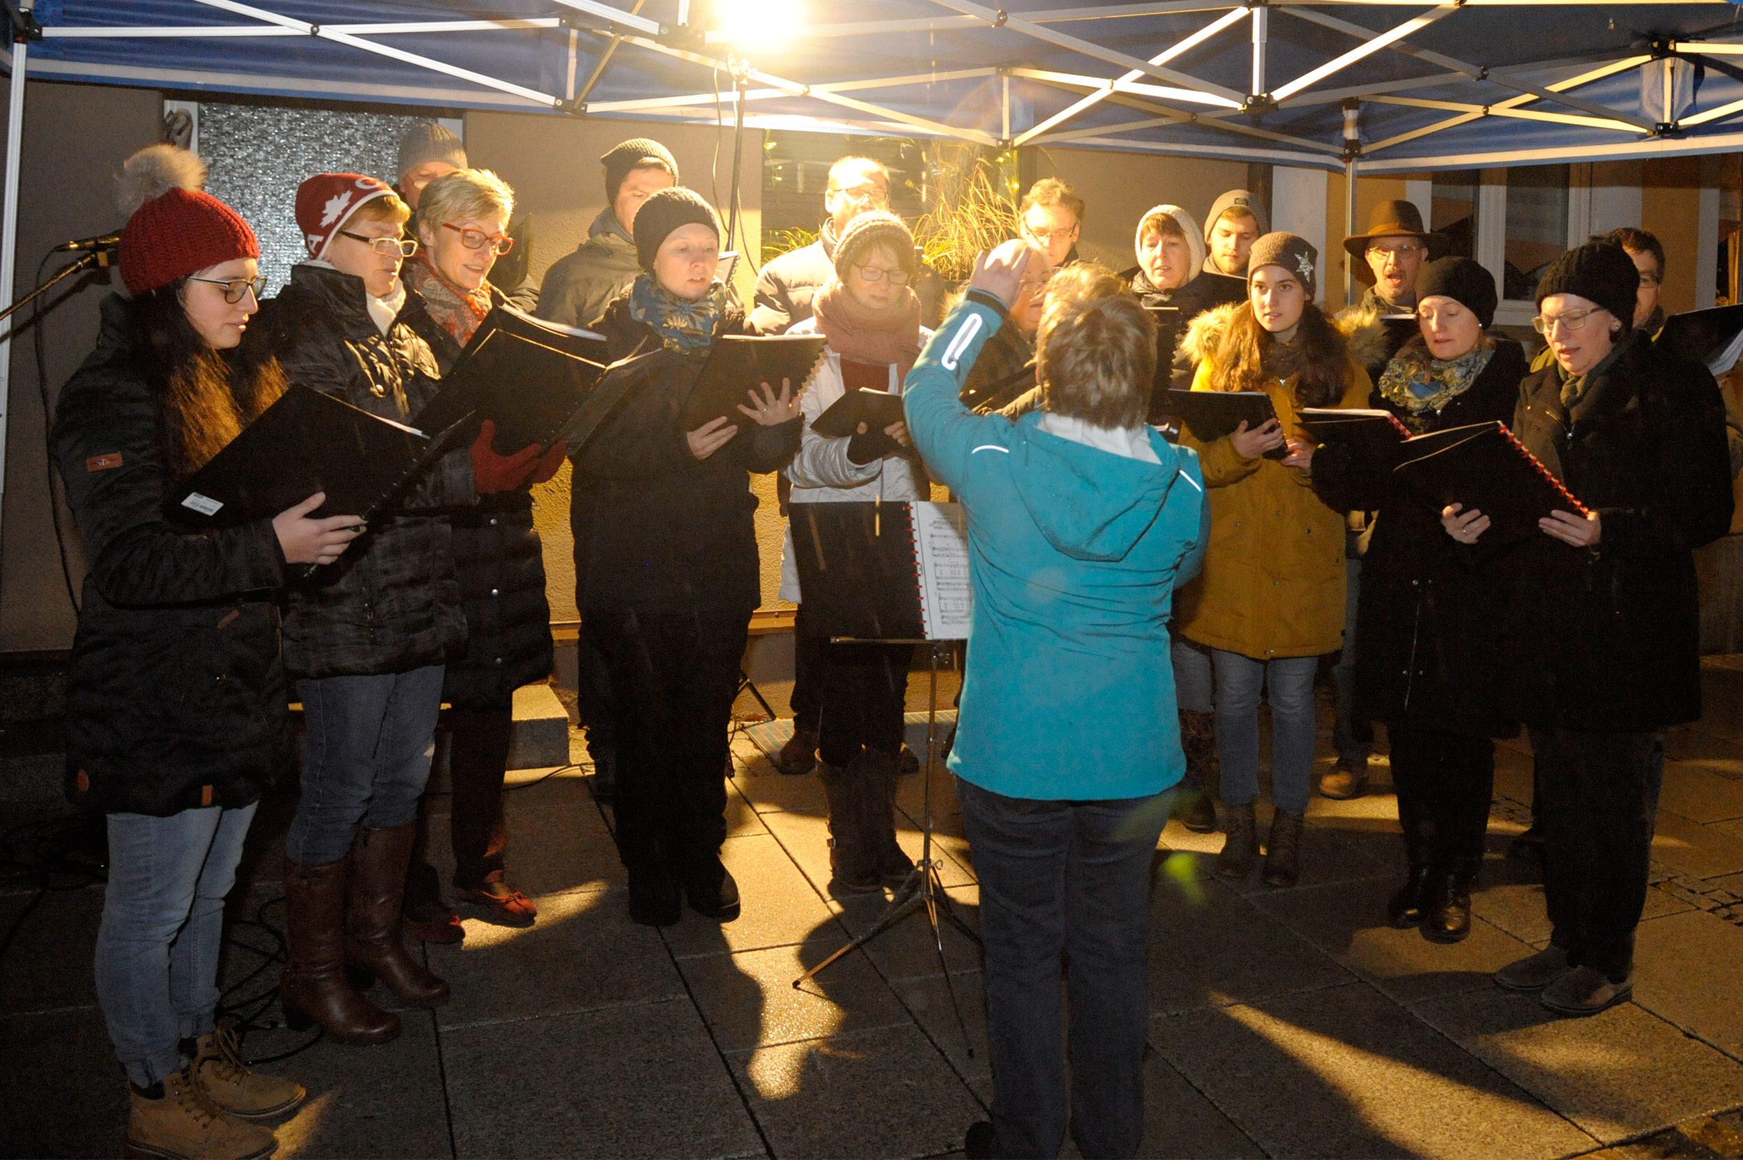
[[[1534,726],[1649,733],[1701,716],[1692,550],[1731,528],[1724,402],[1706,368],[1624,341],[1572,413],[1555,366],[1520,385],[1515,434],[1602,521],[1595,549],[1544,535],[1508,552],[1502,705]]]

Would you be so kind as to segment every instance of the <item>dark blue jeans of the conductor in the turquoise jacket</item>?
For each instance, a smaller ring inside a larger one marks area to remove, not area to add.
[[[980,878],[999,1157],[1135,1157],[1150,1026],[1150,859],[1173,791],[1117,801],[1006,798],[957,779]],[[1070,1094],[1060,970],[1070,954]]]

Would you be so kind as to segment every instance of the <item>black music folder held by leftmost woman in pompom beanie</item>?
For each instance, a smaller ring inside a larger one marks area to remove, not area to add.
[[[326,491],[314,517],[370,519],[443,455],[448,434],[432,437],[319,390],[291,387],[171,491],[164,516],[195,528],[235,528]]]

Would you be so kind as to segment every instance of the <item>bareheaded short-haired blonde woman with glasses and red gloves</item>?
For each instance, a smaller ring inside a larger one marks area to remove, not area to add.
[[[512,246],[512,214],[514,190],[488,169],[455,169],[424,186],[415,219],[418,253],[406,263],[399,319],[429,343],[443,374],[492,308],[507,301],[490,282],[490,270]],[[551,676],[551,606],[530,488],[554,475],[568,449],[558,441],[497,455],[495,434],[495,423],[485,420],[471,449],[479,502],[448,514],[465,604],[465,651],[450,658],[443,676],[453,786],[448,833],[458,899],[493,923],[528,927],[539,907],[509,885],[504,866],[509,829],[502,775],[514,690]],[[464,928],[441,899],[441,881],[424,848],[427,833],[420,810],[406,876],[406,928],[427,942],[458,942]]]

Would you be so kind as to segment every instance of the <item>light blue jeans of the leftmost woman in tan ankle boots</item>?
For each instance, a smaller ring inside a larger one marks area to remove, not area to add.
[[[139,1087],[180,1071],[181,1040],[214,1026],[223,900],[253,820],[254,805],[108,815],[98,1003]]]

